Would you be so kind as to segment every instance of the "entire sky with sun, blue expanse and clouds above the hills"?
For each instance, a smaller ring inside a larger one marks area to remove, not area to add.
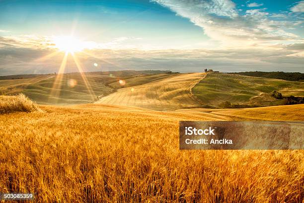
[[[304,72],[304,0],[0,0],[0,75]]]

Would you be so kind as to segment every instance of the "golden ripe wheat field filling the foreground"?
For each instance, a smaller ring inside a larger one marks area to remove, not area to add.
[[[179,120],[242,120],[249,110],[254,119],[273,114],[272,120],[290,120],[282,108],[303,120],[303,104],[168,112],[105,104],[39,107],[43,111],[0,115],[1,192],[62,203],[303,202],[303,150],[178,147]]]

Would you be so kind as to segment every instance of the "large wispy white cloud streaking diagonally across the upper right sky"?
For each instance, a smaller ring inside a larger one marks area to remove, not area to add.
[[[287,32],[294,22],[268,19],[263,9],[247,10],[239,15],[231,0],[153,0],[170,8],[176,14],[189,18],[203,28],[204,33],[224,45],[248,45],[280,40],[295,40],[299,37]],[[284,26],[283,26],[284,25]]]

